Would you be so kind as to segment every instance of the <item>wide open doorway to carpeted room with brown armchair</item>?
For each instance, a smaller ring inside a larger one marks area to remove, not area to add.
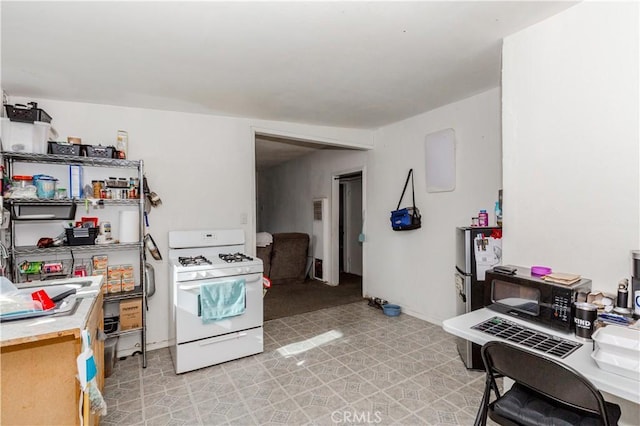
[[[265,320],[363,300],[363,254],[358,238],[362,232],[365,150],[319,141],[306,140],[300,145],[298,142],[258,133],[255,136],[256,232],[271,237],[264,247],[257,247],[265,275],[272,279],[271,289],[263,298]],[[299,155],[294,155],[296,151]],[[336,193],[340,186],[345,234],[339,253],[340,201]],[[320,206],[325,208],[316,208]],[[316,222],[323,225],[321,233],[316,232]],[[282,253],[280,243],[290,233],[310,237],[304,279],[276,278],[274,268]],[[341,268],[339,258],[344,259]],[[350,275],[345,279],[344,274]]]

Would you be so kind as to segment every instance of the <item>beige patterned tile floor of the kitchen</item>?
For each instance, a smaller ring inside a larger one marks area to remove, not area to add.
[[[168,349],[118,361],[103,425],[470,425],[483,374],[454,338],[353,303],[264,324],[264,353],[176,375]]]

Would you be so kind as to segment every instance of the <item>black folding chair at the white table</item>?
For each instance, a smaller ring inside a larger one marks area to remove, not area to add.
[[[475,425],[487,414],[501,425],[617,425],[620,406],[605,402],[598,389],[573,368],[509,343],[482,346],[486,383]],[[496,379],[514,385],[500,394]],[[491,390],[496,399],[490,402]]]

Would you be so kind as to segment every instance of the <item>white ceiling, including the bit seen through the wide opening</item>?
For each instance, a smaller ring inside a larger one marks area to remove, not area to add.
[[[574,4],[1,1],[1,84],[34,100],[375,129],[497,87],[502,39]],[[313,149],[262,139],[268,164]]]

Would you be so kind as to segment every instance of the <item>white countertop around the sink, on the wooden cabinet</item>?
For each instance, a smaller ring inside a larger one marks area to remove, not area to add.
[[[91,285],[77,290],[76,297],[80,301],[75,313],[67,316],[42,316],[30,319],[4,321],[0,323],[0,346],[38,341],[67,334],[70,330],[82,330],[85,328],[89,313],[100,293],[102,276],[89,276],[81,278],[69,278],[44,282],[30,282],[30,288],[34,291],[52,285],[74,284],[83,281],[91,281]],[[39,287],[41,284],[41,287]],[[24,287],[24,286],[22,286]]]

